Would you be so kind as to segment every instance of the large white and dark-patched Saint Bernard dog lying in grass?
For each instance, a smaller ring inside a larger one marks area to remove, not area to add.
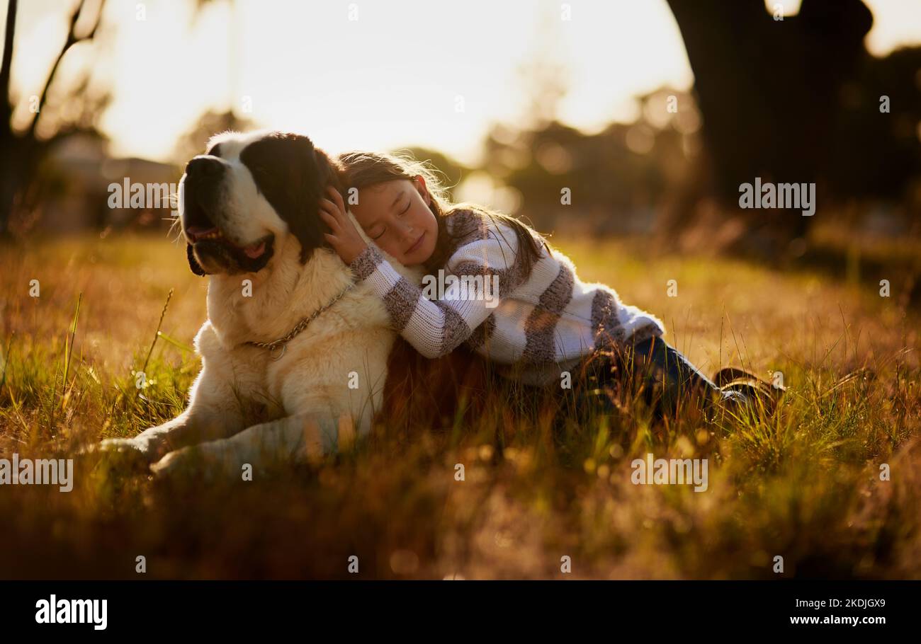
[[[367,436],[397,334],[323,237],[319,200],[330,185],[344,192],[342,178],[334,158],[289,132],[224,132],[192,158],[179,210],[189,266],[209,280],[194,339],[202,370],[178,417],[99,451],[157,476],[192,459],[239,476],[315,463]]]

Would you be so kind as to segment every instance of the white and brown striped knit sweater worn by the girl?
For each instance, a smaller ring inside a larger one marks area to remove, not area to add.
[[[465,344],[497,363],[499,373],[544,385],[593,351],[664,335],[656,316],[622,304],[603,284],[581,282],[558,250],[542,248],[526,272],[506,224],[472,210],[450,214],[446,224],[453,249],[442,277],[455,279],[441,280],[454,283],[437,299],[426,297],[434,289],[426,293],[402,277],[373,244],[350,265],[382,298],[394,328],[427,358]]]

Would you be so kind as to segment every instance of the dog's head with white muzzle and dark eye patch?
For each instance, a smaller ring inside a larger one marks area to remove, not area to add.
[[[328,246],[319,216],[342,168],[306,136],[225,132],[185,167],[179,184],[182,234],[198,275],[262,270],[282,244],[300,244],[305,263]]]

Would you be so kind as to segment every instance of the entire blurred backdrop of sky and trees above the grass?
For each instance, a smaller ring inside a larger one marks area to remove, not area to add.
[[[178,182],[227,128],[411,150],[545,232],[764,259],[917,233],[913,0],[5,4],[7,236],[162,231],[107,187]],[[817,213],[741,211],[754,177],[815,182]]]

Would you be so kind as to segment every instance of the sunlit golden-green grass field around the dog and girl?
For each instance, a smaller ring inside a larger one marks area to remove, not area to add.
[[[554,416],[505,385],[475,413],[384,421],[355,453],[250,483],[77,470],[68,493],[0,487],[3,576],[136,578],[143,556],[146,578],[349,578],[356,555],[366,579],[921,578],[921,325],[907,298],[808,269],[554,243],[584,280],[665,320],[706,373],[782,373],[775,417],[653,420],[630,396],[611,417]],[[0,289],[4,457],[66,458],[181,411],[206,289],[181,248],[114,235],[6,247]],[[708,489],[633,485],[647,452],[708,458]]]

